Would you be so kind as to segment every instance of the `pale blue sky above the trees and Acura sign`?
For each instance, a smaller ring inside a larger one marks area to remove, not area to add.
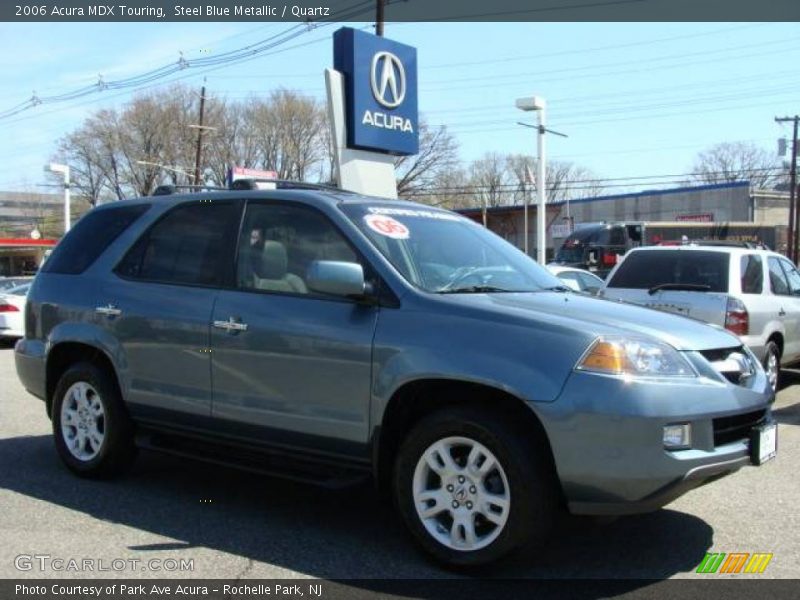
[[[283,87],[322,101],[340,26],[304,29],[265,55],[185,69],[143,90],[175,80],[199,89],[205,80],[230,99]],[[34,93],[135,76],[180,56],[191,64],[291,27],[3,23],[0,113]],[[791,132],[774,117],[800,112],[798,23],[387,23],[385,35],[417,48],[420,113],[448,128],[465,165],[487,152],[535,154],[535,131],[518,124],[534,117],[514,102],[536,95],[547,101],[548,126],[568,136],[547,137],[548,157],[591,169],[609,192],[674,187],[719,142],[777,152]],[[0,190],[49,191],[40,187],[43,165],[58,139],[135,93],[106,90],[0,118]]]

